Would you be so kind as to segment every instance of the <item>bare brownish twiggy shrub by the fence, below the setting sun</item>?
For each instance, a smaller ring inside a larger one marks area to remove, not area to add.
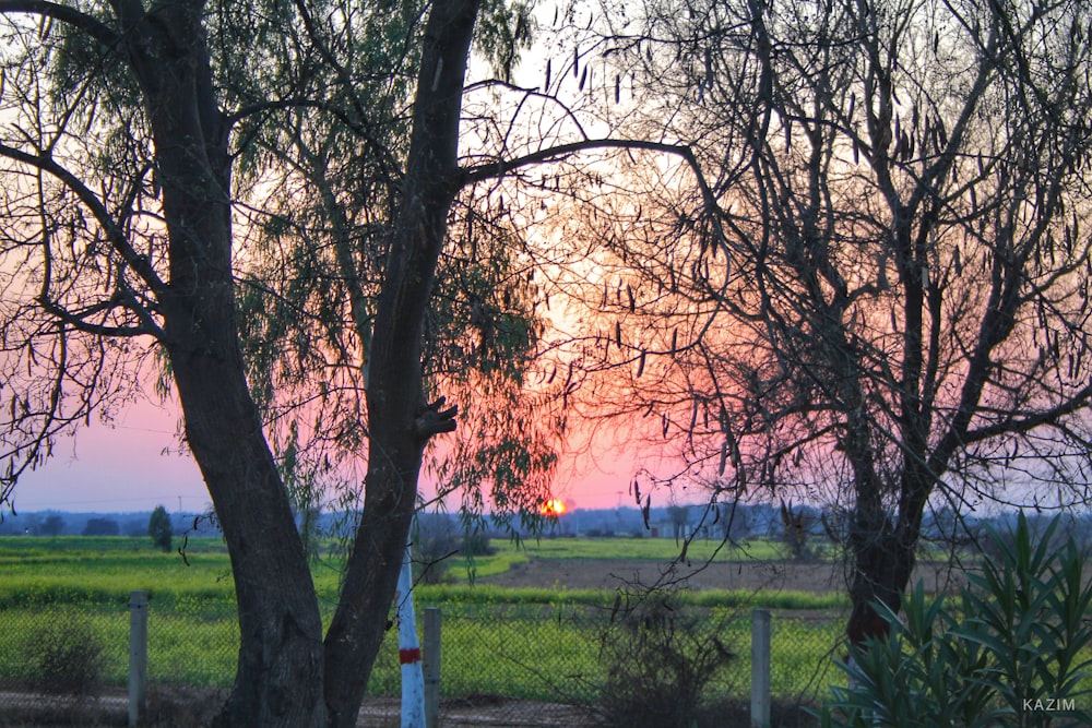
[[[600,694],[602,725],[707,725],[708,689],[733,658],[716,632],[709,619],[688,612],[669,593],[646,596],[613,621],[602,639],[607,676]]]

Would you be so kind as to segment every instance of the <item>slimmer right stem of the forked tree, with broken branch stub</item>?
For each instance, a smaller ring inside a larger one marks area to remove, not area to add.
[[[369,362],[365,504],[341,602],[325,639],[330,725],[355,725],[383,639],[430,437],[454,409],[426,405],[422,334],[460,187],[459,117],[478,0],[438,0],[425,29],[403,196],[394,222]]]

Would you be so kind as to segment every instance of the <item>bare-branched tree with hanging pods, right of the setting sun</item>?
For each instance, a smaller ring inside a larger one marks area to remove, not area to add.
[[[887,629],[876,601],[898,611],[930,503],[1088,498],[1088,10],[628,17],[602,43],[652,99],[622,121],[693,140],[720,213],[670,189],[615,207],[612,262],[642,265],[610,285],[616,354],[593,363],[630,374],[600,396],[658,415],[686,467],[731,477],[720,498],[845,509],[859,642]]]

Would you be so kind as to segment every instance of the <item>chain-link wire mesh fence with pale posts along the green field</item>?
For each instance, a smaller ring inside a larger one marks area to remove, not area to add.
[[[0,709],[11,719],[46,704],[78,712],[84,721],[94,711],[129,711],[135,721],[142,716],[129,701],[133,694],[146,697],[153,719],[189,711],[199,725],[207,717],[201,709],[218,703],[210,693],[222,693],[234,679],[234,607],[194,601],[165,611],[157,613],[155,599],[149,606],[139,595],[128,618],[121,605],[112,611],[0,611]],[[769,699],[751,703],[755,685],[764,682],[776,703],[795,704],[838,679],[829,666],[842,626],[828,613],[770,619],[767,612],[756,620],[726,609],[626,612],[580,604],[463,602],[443,604],[441,612],[438,694],[444,726],[594,725],[617,707],[612,696],[625,703],[658,689],[650,684],[630,695],[626,685],[638,679],[663,683],[677,700],[689,689],[679,682],[689,668],[673,666],[685,659],[711,660],[708,692],[726,699],[723,709],[739,713],[736,720],[748,709],[770,720]],[[144,624],[146,663],[140,651],[131,658],[128,649],[130,633],[139,636]],[[383,644],[361,725],[397,726],[395,642],[392,634]],[[146,671],[146,683],[130,685],[130,665]],[[194,696],[198,706],[183,706],[179,693]],[[775,723],[797,725],[784,716]]]

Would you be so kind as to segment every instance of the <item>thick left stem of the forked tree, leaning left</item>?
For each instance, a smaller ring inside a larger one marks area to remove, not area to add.
[[[163,189],[170,278],[164,346],[227,541],[239,664],[221,726],[319,727],[322,621],[310,570],[239,348],[232,272],[228,123],[212,84],[202,2],[116,3],[144,94]]]

